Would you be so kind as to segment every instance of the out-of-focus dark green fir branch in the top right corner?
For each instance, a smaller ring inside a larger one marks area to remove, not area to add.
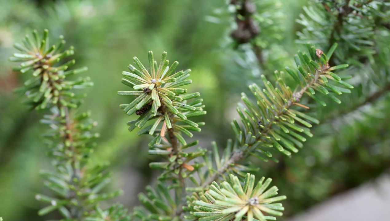
[[[304,28],[297,32],[296,42],[312,42],[325,50],[337,42],[339,50],[330,64],[360,65],[376,53],[375,23],[384,16],[384,4],[376,0],[310,2],[308,7],[303,7],[306,15],[300,14],[297,19]]]

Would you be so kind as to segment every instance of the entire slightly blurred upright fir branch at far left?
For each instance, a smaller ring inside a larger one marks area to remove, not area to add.
[[[77,113],[72,110],[82,103],[83,95],[77,95],[73,89],[87,88],[93,85],[89,78],[69,80],[69,76],[87,70],[86,67],[69,70],[74,60],[60,62],[73,55],[73,47],[62,51],[65,41],[50,46],[48,30],[40,38],[34,30],[33,38],[28,35],[22,44],[15,44],[21,53],[10,58],[21,62],[16,70],[32,74],[32,78],[15,91],[26,95],[27,103],[36,110],[45,110],[49,114],[41,120],[49,126],[44,134],[48,143],[49,155],[54,159],[55,171],[43,170],[41,175],[55,197],[37,194],[36,199],[49,205],[38,211],[43,216],[58,210],[67,220],[96,220],[98,205],[102,200],[113,198],[121,191],[101,193],[109,182],[106,168],[108,165],[89,166],[89,155],[96,145],[94,139],[98,133],[92,133],[96,122],[90,119],[90,113]],[[50,110],[50,111],[49,111]]]

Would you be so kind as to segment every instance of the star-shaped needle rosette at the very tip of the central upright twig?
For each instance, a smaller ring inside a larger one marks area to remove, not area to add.
[[[186,80],[188,73],[191,71],[179,71],[173,74],[179,62],[175,61],[169,68],[169,60],[166,60],[167,52],[163,52],[161,56],[160,65],[157,67],[157,62],[153,59],[152,51],[149,51],[149,71],[144,65],[134,57],[135,64],[140,70],[136,69],[133,65],[129,65],[130,72],[124,71],[122,75],[126,78],[122,79],[122,83],[132,87],[135,91],[119,91],[119,95],[136,95],[138,96],[133,102],[128,104],[124,108],[124,112],[128,115],[137,113],[142,115],[148,112],[151,117],[157,115],[157,110],[161,104],[164,104],[171,113],[178,115],[182,119],[186,119],[185,116],[181,115],[177,110],[177,107],[188,108],[188,110],[195,111],[196,108],[193,106],[181,105],[180,101],[183,101],[182,97],[177,95],[184,94],[187,92],[186,89],[177,88],[183,85],[192,83],[192,80]],[[149,73],[150,72],[150,73]],[[152,104],[149,102],[152,101]],[[142,109],[145,105],[149,104],[150,111]],[[138,112],[137,112],[138,111]],[[142,111],[142,112],[141,112]]]

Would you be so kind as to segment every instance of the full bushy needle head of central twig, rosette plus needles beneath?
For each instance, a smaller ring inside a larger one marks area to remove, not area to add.
[[[175,72],[179,62],[175,61],[171,66],[168,66],[169,60],[166,60],[167,52],[165,51],[161,56],[159,65],[154,60],[152,51],[149,51],[148,55],[149,70],[137,57],[134,57],[135,64],[139,69],[130,64],[128,66],[130,72],[122,72],[124,76],[122,83],[134,90],[118,91],[118,94],[137,97],[129,104],[121,104],[120,108],[127,115],[134,113],[140,115],[137,120],[128,122],[129,131],[132,131],[135,127],[144,127],[149,120],[155,120],[153,124],[146,126],[137,133],[138,135],[144,133],[156,134],[149,146],[160,144],[167,129],[172,128],[177,139],[183,145],[186,145],[181,133],[192,137],[190,131],[200,131],[200,125],[187,118],[206,114],[206,111],[203,111],[203,99],[199,98],[200,94],[198,92],[185,94],[187,89],[179,88],[192,83],[192,80],[187,79],[191,70]],[[197,99],[189,101],[194,98]],[[161,127],[158,127],[160,124]]]

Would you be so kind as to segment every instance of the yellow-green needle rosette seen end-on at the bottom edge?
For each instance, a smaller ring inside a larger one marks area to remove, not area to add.
[[[255,176],[247,173],[242,186],[238,177],[230,175],[229,178],[229,182],[224,181],[220,185],[213,182],[204,196],[193,202],[192,214],[199,217],[199,221],[240,221],[244,218],[248,221],[265,221],[275,220],[275,217],[265,216],[264,212],[275,216],[283,215],[280,211],[284,207],[275,202],[285,200],[286,196],[276,196],[276,186],[267,189],[272,179],[264,181],[262,177],[255,185]]]

